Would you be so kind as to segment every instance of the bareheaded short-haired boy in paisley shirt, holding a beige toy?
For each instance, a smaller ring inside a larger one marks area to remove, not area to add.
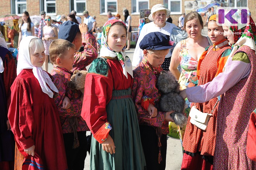
[[[68,81],[73,74],[75,50],[74,44],[63,39],[54,40],[49,47],[53,62],[52,81],[59,90],[59,93],[55,93],[54,100],[60,116],[68,169],[84,169],[87,153],[86,131],[89,130],[81,117],[84,95],[80,90],[71,90],[68,87]],[[70,99],[71,104],[67,110],[62,108],[65,96]]]

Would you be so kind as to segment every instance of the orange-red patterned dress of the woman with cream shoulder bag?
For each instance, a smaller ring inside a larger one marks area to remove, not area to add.
[[[203,85],[212,81],[218,73],[222,72],[223,66],[231,52],[231,47],[228,45],[226,39],[206,49],[207,50],[205,50],[198,61],[198,85]],[[213,98],[205,103],[196,103],[196,108],[201,112],[211,113],[217,100],[217,98]],[[190,123],[191,118],[188,117],[188,124],[183,138],[185,154],[183,155],[181,169],[199,169],[200,165],[200,169],[212,168],[212,165],[210,165],[209,162],[212,164],[213,158],[207,156],[213,156],[215,151],[217,110],[218,104],[213,110],[213,113],[211,113],[213,116],[210,117],[205,131]],[[206,159],[207,162],[204,162],[205,160],[201,157],[199,158],[198,154],[204,155],[204,159]]]

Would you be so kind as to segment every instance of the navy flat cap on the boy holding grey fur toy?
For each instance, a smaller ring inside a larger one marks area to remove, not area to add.
[[[164,50],[170,49],[173,45],[169,44],[170,36],[161,32],[152,32],[144,36],[140,42],[142,50]]]

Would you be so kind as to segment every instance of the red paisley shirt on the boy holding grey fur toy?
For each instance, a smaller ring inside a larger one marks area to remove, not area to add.
[[[153,67],[148,60],[143,57],[140,65],[133,70],[132,98],[136,107],[139,124],[161,127],[162,134],[169,133],[168,121],[165,121],[166,112],[157,112],[157,116],[149,118],[148,110],[141,106],[141,101],[160,99],[160,93],[156,88],[158,74],[163,71],[162,67]],[[151,103],[151,102],[150,102]]]

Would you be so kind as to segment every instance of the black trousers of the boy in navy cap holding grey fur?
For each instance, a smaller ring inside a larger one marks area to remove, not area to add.
[[[147,170],[165,170],[167,135],[162,134],[160,139],[162,144],[162,161],[160,164],[158,164],[159,147],[155,128],[152,126],[140,125],[140,137],[146,159]]]

